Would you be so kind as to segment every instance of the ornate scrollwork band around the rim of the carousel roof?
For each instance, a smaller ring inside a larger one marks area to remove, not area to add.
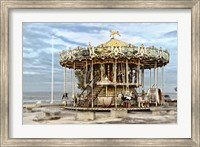
[[[105,50],[106,49],[106,50]],[[84,60],[84,59],[105,59],[105,58],[140,58],[140,59],[161,59],[165,62],[169,61],[168,50],[163,50],[162,48],[156,48],[154,46],[144,47],[141,46],[113,46],[113,47],[90,47],[90,48],[80,48],[69,49],[67,51],[62,50],[59,53],[60,61],[73,61],[73,60]]]

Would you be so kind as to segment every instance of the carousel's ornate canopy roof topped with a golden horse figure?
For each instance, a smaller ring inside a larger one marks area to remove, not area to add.
[[[155,62],[157,67],[165,66],[169,63],[170,54],[167,49],[156,48],[154,46],[145,47],[143,44],[135,46],[124,41],[114,38],[114,35],[119,35],[118,31],[111,31],[111,39],[96,47],[90,43],[87,48],[77,47],[70,50],[60,52],[60,65],[67,68],[83,68],[87,64],[103,64],[125,63],[128,60],[129,64],[138,63],[145,69],[154,68]],[[139,61],[139,62],[138,62]]]

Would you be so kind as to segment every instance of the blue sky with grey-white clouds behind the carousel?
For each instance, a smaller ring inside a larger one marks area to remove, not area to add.
[[[23,91],[51,91],[52,34],[55,36],[54,89],[61,92],[64,69],[59,65],[59,52],[77,46],[87,47],[89,42],[93,46],[104,43],[110,39],[109,30],[118,30],[121,37],[117,39],[136,46],[167,48],[170,63],[165,67],[165,91],[174,92],[177,86],[177,23],[23,23]],[[70,74],[67,70],[67,91]],[[149,71],[145,71],[145,85],[149,87]]]

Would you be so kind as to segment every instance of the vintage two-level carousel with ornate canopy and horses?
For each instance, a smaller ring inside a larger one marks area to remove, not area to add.
[[[88,43],[86,48],[78,46],[60,52],[60,65],[64,68],[64,95],[69,93],[66,91],[66,69],[72,71],[72,107],[131,108],[162,105],[164,67],[170,57],[168,50],[145,47],[143,44],[135,46],[116,39],[120,38],[119,31],[110,32],[110,40],[98,46]],[[158,87],[159,68],[162,70],[161,87]],[[145,70],[149,72],[149,79],[144,78],[144,73],[147,73]],[[147,91],[144,89],[144,80],[149,82]],[[79,93],[75,93],[75,81],[78,81]]]

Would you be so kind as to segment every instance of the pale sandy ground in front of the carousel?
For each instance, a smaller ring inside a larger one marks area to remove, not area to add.
[[[151,111],[128,111],[126,117],[113,118],[110,112],[95,112],[95,120],[75,120],[77,111],[67,110],[63,106],[33,107],[23,109],[23,124],[176,124],[176,107],[173,111],[162,111],[159,114]],[[46,111],[58,112],[56,117],[46,117]],[[58,117],[57,117],[58,116]]]

